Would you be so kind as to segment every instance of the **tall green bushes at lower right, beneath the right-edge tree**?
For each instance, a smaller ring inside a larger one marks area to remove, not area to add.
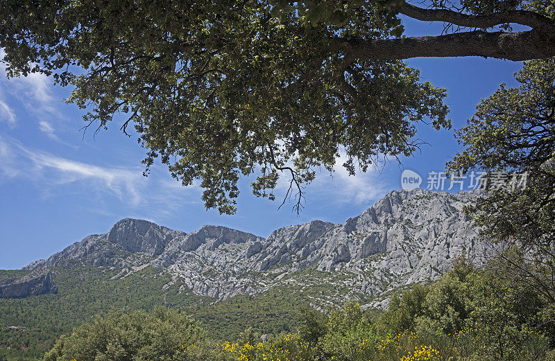
[[[376,326],[382,335],[436,335],[436,342],[451,343],[459,356],[538,360],[547,342],[555,340],[552,312],[549,299],[506,279],[494,264],[479,269],[460,257],[436,283],[414,285],[393,297]],[[539,334],[543,340],[524,346],[531,335]]]

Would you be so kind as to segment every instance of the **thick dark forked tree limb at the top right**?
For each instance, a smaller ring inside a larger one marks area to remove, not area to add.
[[[469,28],[485,29],[513,23],[530,26],[531,30],[518,33],[475,30],[404,39],[336,39],[335,44],[345,52],[345,65],[356,59],[481,56],[522,61],[555,56],[555,22],[535,12],[513,10],[490,15],[465,15],[445,9],[422,9],[407,3],[399,12],[422,21],[445,21]]]

